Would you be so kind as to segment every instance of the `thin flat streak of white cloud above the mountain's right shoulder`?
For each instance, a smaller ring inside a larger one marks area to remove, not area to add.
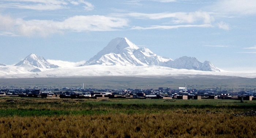
[[[200,24],[200,25],[177,25],[177,26],[150,26],[150,27],[140,27],[140,26],[134,26],[132,29],[134,30],[149,30],[149,29],[176,29],[181,27],[213,27],[211,24]]]

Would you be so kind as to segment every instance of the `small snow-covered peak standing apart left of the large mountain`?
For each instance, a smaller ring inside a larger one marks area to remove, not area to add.
[[[30,54],[28,55],[24,60],[17,63],[15,66],[24,66],[24,67],[37,67],[35,69],[32,69],[32,72],[39,71],[38,68],[42,69],[51,69],[51,68],[58,68],[59,66],[50,64],[48,61],[44,59],[44,57],[38,57],[36,54]]]

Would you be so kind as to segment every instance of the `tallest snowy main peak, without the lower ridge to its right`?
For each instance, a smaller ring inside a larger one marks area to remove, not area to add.
[[[127,38],[115,38],[97,55],[81,66],[86,65],[124,65],[124,66],[159,66],[162,61],[169,61],[154,54],[149,49],[139,48]]]

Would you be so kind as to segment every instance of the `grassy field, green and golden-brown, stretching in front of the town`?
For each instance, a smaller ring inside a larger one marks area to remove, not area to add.
[[[254,137],[256,101],[0,98],[1,137]]]

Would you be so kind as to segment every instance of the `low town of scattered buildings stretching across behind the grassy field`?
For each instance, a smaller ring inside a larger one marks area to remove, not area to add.
[[[188,89],[185,83],[184,87],[158,89],[96,89],[82,87],[0,87],[0,97],[38,97],[38,98],[137,98],[137,99],[237,99],[256,100],[255,89],[250,91],[233,92],[233,89],[206,88],[206,89]]]

